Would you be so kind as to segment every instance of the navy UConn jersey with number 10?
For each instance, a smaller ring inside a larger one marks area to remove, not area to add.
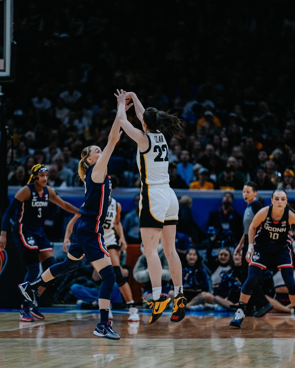
[[[274,245],[278,249],[287,247],[287,245],[291,244],[289,238],[289,208],[285,208],[283,216],[279,221],[274,221],[271,218],[272,209],[273,205],[270,205],[266,219],[261,223],[254,238],[255,244],[258,246]]]

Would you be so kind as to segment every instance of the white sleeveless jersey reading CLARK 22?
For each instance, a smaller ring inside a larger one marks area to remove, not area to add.
[[[164,135],[147,133],[149,148],[145,152],[137,149],[136,161],[140,173],[142,185],[145,184],[167,184],[168,174],[168,145]]]

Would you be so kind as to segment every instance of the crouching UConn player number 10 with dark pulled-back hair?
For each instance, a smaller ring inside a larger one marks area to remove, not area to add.
[[[295,280],[290,248],[292,242],[289,238],[292,224],[295,224],[295,213],[287,207],[287,193],[284,189],[275,189],[271,205],[260,209],[249,227],[249,245],[246,254],[246,259],[250,263],[249,272],[242,286],[239,308],[230,321],[230,326],[241,328],[253,287],[258,282],[262,270],[270,264],[281,270],[289,291],[289,299],[295,310]]]

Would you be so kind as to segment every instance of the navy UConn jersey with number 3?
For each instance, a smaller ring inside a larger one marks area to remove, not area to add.
[[[43,194],[39,195],[34,183],[28,184],[28,187],[31,191],[30,198],[22,203],[21,210],[17,215],[17,221],[30,227],[42,226],[49,202],[48,188],[45,186]]]

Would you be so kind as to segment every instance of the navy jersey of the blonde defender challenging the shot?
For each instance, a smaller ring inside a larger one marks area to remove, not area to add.
[[[79,209],[83,217],[96,221],[96,229],[104,224],[107,216],[108,204],[111,199],[111,177],[107,174],[103,183],[94,183],[91,173],[94,165],[91,165],[85,173],[85,204]]]

